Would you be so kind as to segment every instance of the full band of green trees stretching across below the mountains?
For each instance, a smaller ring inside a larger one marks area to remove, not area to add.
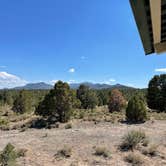
[[[147,106],[157,111],[166,111],[166,75],[154,76],[148,89],[90,89],[80,85],[77,90],[58,81],[49,90],[1,90],[0,104],[10,105],[18,113],[34,112],[44,118],[55,117],[60,122],[70,119],[73,109],[94,109],[107,105],[109,112],[126,110],[127,120],[144,121]]]

